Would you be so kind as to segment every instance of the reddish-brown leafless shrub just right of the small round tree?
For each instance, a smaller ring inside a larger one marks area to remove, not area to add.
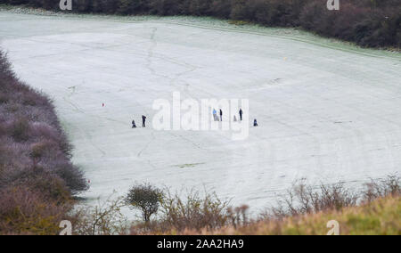
[[[248,206],[229,207],[215,192],[196,190],[171,193],[164,190],[158,218],[146,223],[136,222],[131,234],[211,231],[225,225],[241,226],[250,222]],[[184,197],[183,197],[184,196]]]

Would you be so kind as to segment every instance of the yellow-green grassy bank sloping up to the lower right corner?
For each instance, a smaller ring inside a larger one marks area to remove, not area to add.
[[[282,221],[266,220],[239,228],[229,226],[211,232],[187,230],[179,234],[325,235],[331,230],[327,223],[335,220],[340,225],[340,235],[401,235],[400,214],[401,198],[397,196],[374,200],[360,207],[288,217]]]

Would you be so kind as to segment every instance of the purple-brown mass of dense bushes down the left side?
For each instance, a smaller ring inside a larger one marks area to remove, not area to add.
[[[0,51],[0,233],[55,233],[86,179],[47,97],[25,86]]]

